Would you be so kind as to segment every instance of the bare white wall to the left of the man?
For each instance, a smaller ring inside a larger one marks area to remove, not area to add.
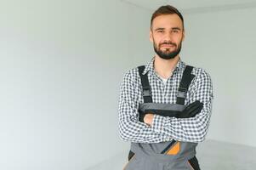
[[[0,2],[0,169],[80,170],[128,150],[124,71],[147,57],[148,11],[119,0]]]

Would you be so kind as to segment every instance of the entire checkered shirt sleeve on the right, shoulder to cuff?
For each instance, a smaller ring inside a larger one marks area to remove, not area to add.
[[[212,111],[213,85],[206,71],[197,68],[194,73],[196,77],[188,90],[186,105],[199,100],[203,103],[202,111],[195,117],[184,119],[154,115],[151,126],[154,132],[185,142],[197,143],[205,139]]]

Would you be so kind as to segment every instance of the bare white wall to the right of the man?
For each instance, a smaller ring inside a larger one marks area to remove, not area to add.
[[[185,14],[184,60],[213,79],[208,139],[256,146],[256,8]]]

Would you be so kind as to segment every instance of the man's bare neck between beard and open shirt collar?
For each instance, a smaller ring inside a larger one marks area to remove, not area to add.
[[[162,78],[172,76],[173,70],[179,61],[179,55],[174,59],[162,59],[158,55],[155,56],[154,69]]]

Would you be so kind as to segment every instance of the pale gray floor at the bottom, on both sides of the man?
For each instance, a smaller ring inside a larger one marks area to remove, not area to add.
[[[122,170],[128,150],[86,170]],[[202,170],[255,170],[256,148],[208,140],[197,147],[197,159]]]

